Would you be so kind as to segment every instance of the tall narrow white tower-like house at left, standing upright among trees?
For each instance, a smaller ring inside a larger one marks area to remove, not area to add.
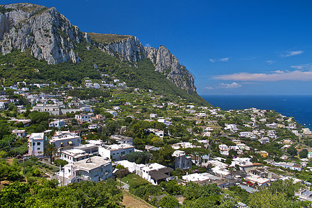
[[[28,139],[28,155],[43,157],[44,155],[44,133],[33,133]]]

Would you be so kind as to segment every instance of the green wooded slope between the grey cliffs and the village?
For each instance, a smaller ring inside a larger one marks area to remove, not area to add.
[[[176,87],[164,74],[155,71],[153,63],[148,59],[139,60],[137,62],[138,67],[132,67],[132,63],[121,62],[118,58],[103,53],[87,42],[78,44],[75,52],[81,59],[79,63],[68,61],[55,65],[36,60],[29,50],[22,53],[15,50],[12,53],[0,55],[0,76],[4,78],[0,80],[0,84],[10,86],[26,79],[28,83],[55,82],[62,85],[69,83],[78,86],[83,83],[85,78],[102,80],[101,73],[107,73],[119,78],[129,87],[139,87],[144,90],[153,89],[155,94],[171,98],[171,101],[179,101],[182,98],[189,103],[209,105],[195,92],[188,94],[183,89]],[[94,65],[97,67],[95,68]],[[103,97],[109,96],[108,92],[100,94],[97,90],[90,90],[93,93],[90,94],[86,89],[84,90],[85,95],[77,90],[73,90],[69,94],[81,98],[89,98],[94,96],[93,94]]]

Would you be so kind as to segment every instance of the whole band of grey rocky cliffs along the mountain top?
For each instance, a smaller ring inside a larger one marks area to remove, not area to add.
[[[14,49],[29,50],[35,58],[49,64],[68,60],[79,62],[75,49],[85,40],[123,61],[136,64],[138,60],[149,58],[155,65],[155,71],[164,73],[177,87],[189,94],[196,92],[191,73],[164,46],[158,49],[142,46],[137,37],[130,35],[89,34],[91,37],[81,33],[55,8],[31,3],[0,6],[0,50],[3,55]],[[92,37],[105,42],[92,42]]]

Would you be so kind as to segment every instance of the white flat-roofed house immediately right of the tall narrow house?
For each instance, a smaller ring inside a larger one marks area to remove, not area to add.
[[[79,146],[80,137],[75,132],[62,131],[55,132],[55,135],[50,139],[51,144],[55,144],[58,148],[67,146]]]

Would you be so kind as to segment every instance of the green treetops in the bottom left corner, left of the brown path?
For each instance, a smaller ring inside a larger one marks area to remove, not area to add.
[[[1,207],[123,207],[114,181],[81,182],[58,187],[56,180],[14,182],[0,192]]]

